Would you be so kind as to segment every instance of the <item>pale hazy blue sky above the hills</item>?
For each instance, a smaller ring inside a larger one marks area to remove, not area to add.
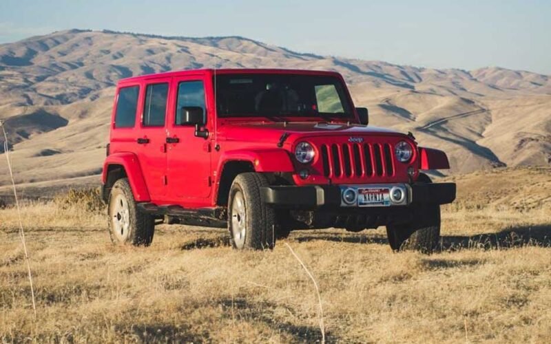
[[[0,43],[69,28],[238,35],[315,54],[551,74],[551,0],[0,0]]]

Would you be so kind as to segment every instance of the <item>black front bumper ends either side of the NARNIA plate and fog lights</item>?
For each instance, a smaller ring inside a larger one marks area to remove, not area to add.
[[[448,204],[455,200],[455,183],[415,183],[410,188],[411,202],[408,205]],[[264,203],[275,206],[319,208],[341,205],[341,189],[337,185],[266,186],[261,193]]]

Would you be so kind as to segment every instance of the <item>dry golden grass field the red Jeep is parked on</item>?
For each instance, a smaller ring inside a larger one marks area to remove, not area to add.
[[[0,340],[320,341],[318,297],[287,243],[318,281],[328,343],[548,343],[551,170],[454,179],[459,199],[443,207],[430,256],[391,252],[384,228],[302,231],[271,252],[236,252],[225,230],[163,225],[151,247],[120,247],[93,197],[26,203],[36,319],[8,207]]]

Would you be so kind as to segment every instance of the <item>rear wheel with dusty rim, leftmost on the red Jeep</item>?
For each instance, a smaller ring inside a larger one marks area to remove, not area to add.
[[[153,241],[155,219],[136,208],[127,178],[115,182],[107,203],[109,234],[114,244],[149,246]]]

